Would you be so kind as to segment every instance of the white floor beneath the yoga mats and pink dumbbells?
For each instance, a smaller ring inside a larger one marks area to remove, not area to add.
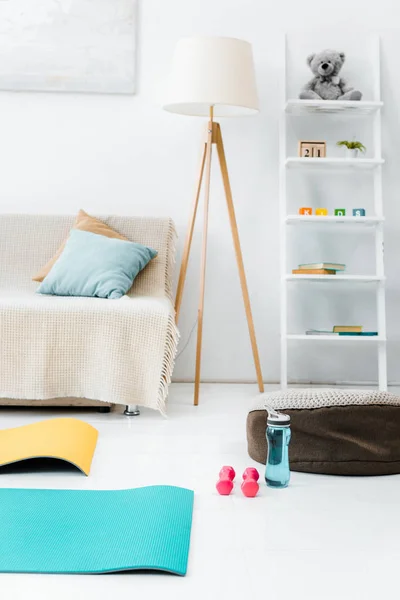
[[[139,418],[79,412],[79,418],[100,432],[88,478],[78,472],[0,476],[3,487],[118,489],[171,484],[194,489],[186,577],[0,575],[0,596],[376,600],[391,592],[396,598],[400,476],[292,473],[287,489],[271,490],[262,484],[254,499],[242,495],[239,477],[233,495],[218,496],[215,481],[223,464],[232,464],[239,476],[250,465],[263,474],[262,465],[251,461],[246,450],[247,408],[256,394],[252,385],[207,384],[195,408],[192,386],[175,384],[168,419],[146,410]],[[1,409],[0,427],[64,413]]]

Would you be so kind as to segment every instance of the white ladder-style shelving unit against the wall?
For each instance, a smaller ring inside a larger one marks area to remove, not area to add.
[[[286,99],[286,41],[285,41],[285,68],[283,84],[283,108],[280,117],[280,226],[281,226],[281,387],[285,389],[288,385],[288,344],[295,340],[297,342],[333,342],[345,344],[372,344],[377,348],[379,389],[387,389],[387,359],[386,359],[386,310],[385,310],[385,271],[384,271],[384,232],[383,232],[383,202],[382,202],[382,159],[381,148],[381,108],[383,102],[380,97],[380,43],[379,37],[373,39],[373,71],[374,71],[374,100],[360,102],[324,101],[324,100],[287,100]],[[287,118],[288,116],[310,116],[314,114],[340,114],[343,118],[352,119],[357,116],[369,116],[373,126],[373,158],[299,158],[287,155]],[[374,186],[374,215],[365,217],[319,217],[300,216],[288,214],[287,206],[287,176],[289,169],[326,169],[337,171],[366,170],[373,173]],[[287,242],[288,230],[293,225],[301,227],[304,223],[321,223],[324,226],[336,227],[339,224],[347,226],[352,224],[357,227],[368,226],[374,228],[375,233],[375,274],[363,275],[292,275],[287,272]],[[376,309],[378,335],[371,337],[357,336],[324,336],[324,335],[302,335],[288,332],[288,286],[293,282],[302,285],[313,285],[314,281],[324,281],[328,285],[341,282],[347,285],[372,284],[376,288]]]

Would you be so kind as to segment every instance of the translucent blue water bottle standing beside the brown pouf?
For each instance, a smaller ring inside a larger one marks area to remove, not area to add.
[[[284,488],[289,485],[290,417],[266,406],[268,456],[265,481],[269,487]]]

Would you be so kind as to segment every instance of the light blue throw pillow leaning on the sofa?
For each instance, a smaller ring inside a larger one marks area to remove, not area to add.
[[[53,296],[121,298],[157,252],[134,242],[72,229],[37,291]]]

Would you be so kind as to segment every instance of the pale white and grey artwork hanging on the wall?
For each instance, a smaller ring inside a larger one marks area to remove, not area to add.
[[[136,1],[0,2],[0,90],[133,94]]]

